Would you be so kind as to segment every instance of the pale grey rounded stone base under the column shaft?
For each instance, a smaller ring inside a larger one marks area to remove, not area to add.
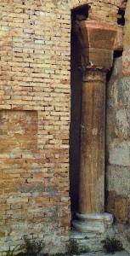
[[[79,232],[103,234],[112,227],[113,217],[110,213],[76,213],[73,227]]]

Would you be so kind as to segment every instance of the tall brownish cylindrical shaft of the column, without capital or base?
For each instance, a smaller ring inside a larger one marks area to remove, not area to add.
[[[87,70],[82,83],[80,213],[105,211],[105,73]]]

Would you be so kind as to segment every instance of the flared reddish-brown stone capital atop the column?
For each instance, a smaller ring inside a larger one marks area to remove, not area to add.
[[[82,70],[110,70],[113,63],[118,26],[97,20],[76,22],[76,34],[81,44]]]

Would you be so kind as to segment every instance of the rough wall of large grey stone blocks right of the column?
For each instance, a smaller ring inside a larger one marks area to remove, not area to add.
[[[107,210],[113,212],[120,224],[130,223],[129,8],[127,3],[123,55],[115,59],[107,105]]]

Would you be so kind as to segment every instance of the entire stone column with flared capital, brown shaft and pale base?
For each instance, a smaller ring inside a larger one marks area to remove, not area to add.
[[[76,32],[82,59],[82,139],[79,212],[73,225],[84,232],[105,232],[105,78],[112,67],[117,26],[80,21]]]

